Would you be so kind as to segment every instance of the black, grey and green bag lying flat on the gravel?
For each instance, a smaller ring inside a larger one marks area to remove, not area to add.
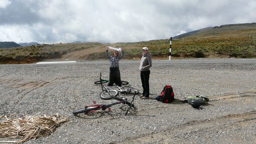
[[[191,104],[193,108],[198,108],[201,105],[208,104],[209,99],[203,95],[195,95],[188,97],[187,102]]]

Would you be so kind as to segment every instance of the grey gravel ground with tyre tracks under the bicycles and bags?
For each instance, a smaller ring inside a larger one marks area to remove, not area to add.
[[[138,68],[120,65],[121,79],[141,91]],[[93,81],[100,72],[108,79],[108,64],[0,65],[0,116],[68,118],[53,136],[26,143],[256,143],[255,63],[153,64],[150,99],[136,96],[128,116],[121,104],[74,116],[93,100],[116,102],[99,98],[101,87]],[[154,99],[165,85],[173,87],[172,103]],[[197,110],[180,102],[192,95],[208,97],[209,105]]]

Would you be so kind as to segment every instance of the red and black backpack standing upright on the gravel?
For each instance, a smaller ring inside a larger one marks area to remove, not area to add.
[[[174,93],[172,90],[172,86],[170,85],[164,86],[163,91],[159,96],[156,97],[156,100],[164,103],[172,102],[174,100]]]

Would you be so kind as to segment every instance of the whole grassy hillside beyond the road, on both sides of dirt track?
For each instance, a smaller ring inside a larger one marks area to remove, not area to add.
[[[151,40],[144,42],[128,42],[102,44],[67,43],[54,45],[39,45],[24,48],[0,49],[0,64],[4,63],[31,63],[47,58],[60,58],[70,52],[86,51],[94,47],[80,59],[106,59],[105,47],[116,46],[125,48],[124,59],[141,57],[141,48],[148,47],[153,59],[168,58],[170,40]],[[172,58],[193,57],[236,57],[256,58],[256,23],[223,25],[210,30],[184,36],[172,41]]]

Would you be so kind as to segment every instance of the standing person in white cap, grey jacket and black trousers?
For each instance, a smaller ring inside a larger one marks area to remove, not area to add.
[[[152,66],[151,54],[148,52],[148,48],[142,48],[143,55],[140,60],[140,79],[142,83],[143,93],[141,99],[149,98],[149,68]]]

